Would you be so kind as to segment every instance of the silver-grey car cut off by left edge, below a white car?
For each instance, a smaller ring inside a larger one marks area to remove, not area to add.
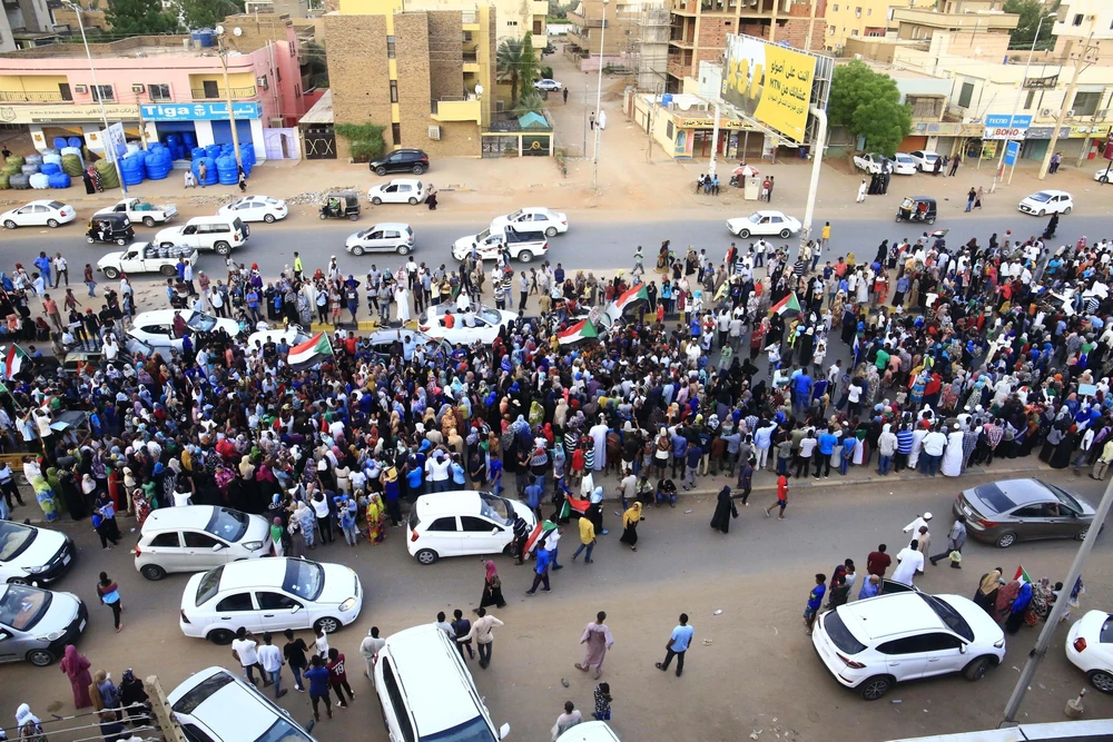
[[[46,667],[76,644],[89,609],[73,593],[10,583],[0,585],[0,662],[26,660]]]

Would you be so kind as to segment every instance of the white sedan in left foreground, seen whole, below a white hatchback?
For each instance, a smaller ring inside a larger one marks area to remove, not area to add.
[[[358,619],[362,609],[363,585],[353,570],[282,556],[195,574],[181,593],[178,625],[186,636],[227,644],[240,626],[331,634]]]

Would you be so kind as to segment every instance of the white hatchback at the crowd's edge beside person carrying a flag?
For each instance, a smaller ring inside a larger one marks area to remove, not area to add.
[[[514,541],[514,515],[532,530],[538,518],[516,499],[460,489],[422,495],[410,511],[406,548],[422,564],[443,556],[499,554]]]

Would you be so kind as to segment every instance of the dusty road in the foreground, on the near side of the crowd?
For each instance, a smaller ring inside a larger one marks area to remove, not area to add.
[[[1076,487],[1096,504],[1096,483],[1056,472],[1043,475]],[[991,478],[964,477],[961,486]],[[895,552],[906,538],[900,528],[925,509],[936,513],[933,531],[942,538],[949,527],[948,508],[957,485],[938,477],[826,492],[800,489],[786,522],[762,517],[764,503],[755,499],[741,508],[728,535],[707,527],[713,507],[709,499],[686,498],[676,509],[647,513],[636,554],[618,543],[614,530],[601,538],[591,566],[573,564],[565,547],[561,561],[567,566],[554,574],[553,593],[532,598],[522,595],[530,580],[528,567],[499,557],[510,604],[496,614],[506,625],[496,632],[491,669],[470,665],[476,684],[495,722],[511,723],[511,740],[549,739],[545,735],[565,700],[590,711],[594,685],[572,664],[580,659],[577,642],[583,624],[605,610],[617,644],[607,659],[604,680],[615,698],[613,726],[624,740],[736,741],[761,730],[761,740],[874,741],[993,728],[1017,676],[1014,667],[1021,666],[1035,641],[1033,630],[1009,637],[1004,664],[977,684],[961,677],[937,679],[898,686],[886,700],[866,705],[827,674],[800,624],[815,572],[829,573],[847,556],[864,565],[866,553],[878,542],[887,542]],[[689,508],[693,512],[687,513]],[[23,513],[17,509],[14,514],[22,517]],[[617,521],[611,508],[607,520],[611,526]],[[130,524],[125,521],[122,525],[127,534]],[[116,677],[129,666],[140,676],[157,673],[169,690],[191,671],[211,664],[234,666],[227,647],[181,635],[177,614],[184,575],[145,582],[125,547],[97,548],[88,522],[61,528],[75,536],[80,554],[73,572],[58,587],[90,603],[90,627],[80,649],[95,669],[110,670]],[[134,537],[127,534],[125,543]],[[432,622],[440,610],[466,612],[479,600],[482,567],[477,560],[445,560],[422,567],[406,554],[403,538],[401,531],[392,530],[378,546],[334,544],[313,553],[315,558],[353,566],[367,590],[357,623],[332,642],[349,659],[356,702],[348,711],[334,709],[335,721],[317,726],[315,735],[323,742],[386,739],[377,700],[370,683],[358,676],[357,646],[371,625],[388,634]],[[571,546],[574,534],[567,534],[564,543]],[[963,571],[928,567],[918,583],[929,592],[968,595],[987,568],[1003,566],[1012,573],[1017,564],[1034,576],[1061,580],[1076,546],[1070,541],[1043,542],[1002,552],[972,543]],[[1111,550],[1107,536],[1099,541],[1085,573],[1089,592],[1083,610],[1113,604]],[[107,570],[121,586],[127,609],[120,634],[111,630],[109,611],[93,601],[100,570]],[[718,610],[722,613],[715,615]],[[684,676],[677,679],[656,671],[653,662],[661,659],[681,611],[692,617],[696,642]],[[1026,721],[1061,719],[1065,701],[1085,684],[1061,646],[1057,642],[1052,649],[1032,684],[1022,716]],[[562,677],[569,679],[569,689],[562,687]],[[10,692],[0,698],[0,720],[11,720],[16,705],[24,700],[42,716],[72,711],[69,685],[57,666],[11,665],[4,670],[4,681]],[[956,698],[963,702],[954,703]],[[902,703],[889,703],[893,700]],[[290,693],[282,703],[297,719],[309,718],[305,695]],[[1091,693],[1086,710],[1089,718],[1113,715],[1113,699]],[[70,742],[76,735],[51,734],[50,739]]]

